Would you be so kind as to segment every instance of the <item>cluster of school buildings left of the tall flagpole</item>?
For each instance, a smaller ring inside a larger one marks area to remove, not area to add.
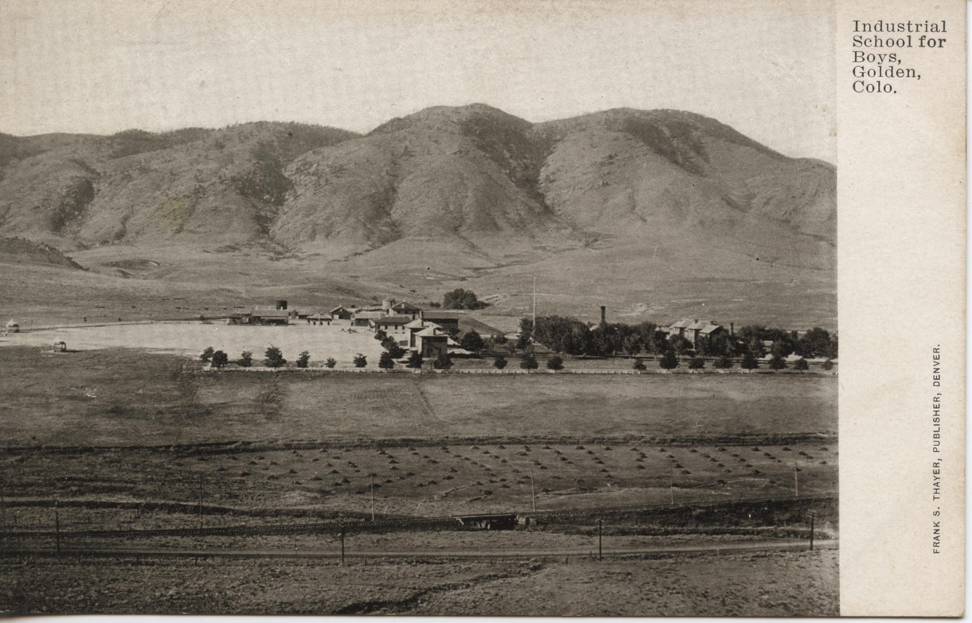
[[[423,309],[407,301],[385,299],[380,305],[334,307],[330,311],[295,309],[286,300],[272,306],[255,306],[229,318],[234,325],[346,325],[349,328],[382,330],[403,348],[414,350],[424,358],[440,353],[468,354],[453,339],[460,331],[461,314],[437,309]],[[499,334],[499,331],[497,331]]]

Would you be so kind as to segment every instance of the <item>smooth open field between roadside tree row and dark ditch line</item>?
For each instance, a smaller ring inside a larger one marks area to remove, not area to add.
[[[0,352],[8,446],[837,431],[832,376],[212,374],[126,349]]]

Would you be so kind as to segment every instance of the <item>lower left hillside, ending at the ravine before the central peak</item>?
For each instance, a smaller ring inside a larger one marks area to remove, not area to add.
[[[352,136],[260,122],[77,140],[8,137],[0,158],[0,232],[61,246],[175,242],[218,249],[265,239],[290,190],[284,163]]]

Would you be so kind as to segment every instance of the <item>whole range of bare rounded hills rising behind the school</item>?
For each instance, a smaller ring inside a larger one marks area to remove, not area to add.
[[[366,135],[281,122],[0,134],[0,235],[62,251],[260,245],[366,260],[434,241],[489,265],[650,240],[831,270],[835,192],[825,162],[669,110],[532,123],[434,107]]]

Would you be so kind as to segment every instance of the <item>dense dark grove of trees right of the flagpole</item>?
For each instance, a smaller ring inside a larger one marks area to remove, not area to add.
[[[768,341],[773,342],[769,354],[779,358],[793,353],[803,358],[837,357],[837,336],[819,327],[801,335],[797,331],[754,325],[740,329],[735,336],[724,330],[709,337],[700,336],[693,346],[684,336],[669,335],[654,323],[590,326],[576,318],[538,316],[536,327],[529,318],[520,321],[517,345],[524,348],[531,339],[556,353],[596,357],[664,355],[672,351],[682,356],[745,357],[750,354],[759,358],[767,354],[764,343]]]

